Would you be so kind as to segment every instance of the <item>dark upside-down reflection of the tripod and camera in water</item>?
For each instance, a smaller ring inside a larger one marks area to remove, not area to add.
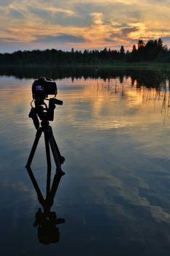
[[[53,184],[50,187],[51,167],[47,167],[47,188],[46,198],[44,198],[31,167],[26,167],[26,169],[28,170],[28,175],[36,190],[39,203],[42,205],[42,209],[39,208],[38,211],[36,211],[36,219],[34,222],[34,227],[38,228],[39,242],[42,244],[57,243],[60,240],[60,233],[57,225],[64,223],[65,219],[58,218],[55,211],[50,211],[50,209],[53,206],[53,200],[61,181],[61,177],[65,173],[56,172],[53,178]]]

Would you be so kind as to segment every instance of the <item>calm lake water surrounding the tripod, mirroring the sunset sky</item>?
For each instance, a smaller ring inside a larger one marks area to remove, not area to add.
[[[51,211],[65,223],[42,230],[44,238],[34,227],[43,211],[36,184],[46,196],[43,137],[31,165],[36,184],[25,168],[40,73],[0,76],[1,255],[169,255],[169,71],[50,73],[63,100],[50,124],[66,158]]]

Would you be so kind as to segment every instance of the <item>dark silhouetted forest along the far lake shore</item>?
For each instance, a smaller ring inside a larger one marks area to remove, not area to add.
[[[163,45],[162,39],[139,40],[137,46],[127,50],[123,45],[120,50],[18,50],[14,53],[0,53],[0,65],[102,65],[133,62],[166,62],[170,63],[170,50]]]

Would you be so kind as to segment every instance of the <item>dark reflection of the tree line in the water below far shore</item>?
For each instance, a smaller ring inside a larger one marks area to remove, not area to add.
[[[134,70],[134,69],[111,69],[95,67],[1,67],[1,75],[15,76],[16,78],[39,78],[47,77],[52,79],[72,78],[75,79],[103,79],[119,78],[123,83],[124,78],[131,78],[132,86],[137,88],[147,87],[161,89],[163,84],[170,84],[170,72],[158,70]]]

